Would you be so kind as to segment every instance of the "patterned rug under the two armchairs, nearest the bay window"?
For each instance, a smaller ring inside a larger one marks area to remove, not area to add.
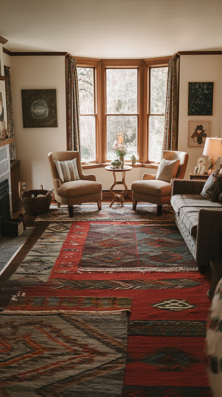
[[[173,223],[173,208],[171,205],[163,205],[162,215],[157,216],[157,206],[155,204],[137,204],[137,210],[134,211],[131,204],[124,206],[114,204],[109,208],[109,204],[102,203],[101,211],[98,210],[97,203],[81,204],[73,206],[73,218],[69,218],[68,207],[51,205],[45,215],[39,215],[36,221],[152,221]]]

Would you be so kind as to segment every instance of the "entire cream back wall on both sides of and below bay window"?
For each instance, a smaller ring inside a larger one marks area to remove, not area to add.
[[[9,56],[4,54],[9,65],[11,62],[11,87],[15,128],[16,157],[21,160],[20,176],[26,181],[28,189],[52,189],[48,153],[66,150],[66,97],[65,97],[65,57],[64,56]],[[178,120],[178,150],[189,154],[185,178],[194,172],[197,159],[203,156],[203,147],[188,148],[188,121],[205,119],[211,121],[210,136],[221,136],[222,114],[222,78],[221,55],[182,55],[180,56],[180,94]],[[214,81],[213,116],[188,116],[188,82]],[[58,128],[23,128],[22,89],[56,89]],[[206,158],[206,167],[209,166]],[[220,160],[216,164],[220,166]],[[84,170],[86,174],[94,173],[103,190],[109,190],[113,183],[112,172],[104,168]],[[131,183],[142,178],[143,173],[156,173],[155,169],[133,168],[126,172],[125,181],[128,189]],[[121,174],[120,174],[121,175]],[[118,175],[118,179],[121,176]],[[122,189],[122,185],[116,189]]]

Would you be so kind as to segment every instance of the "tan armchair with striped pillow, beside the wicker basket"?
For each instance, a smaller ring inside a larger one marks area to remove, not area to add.
[[[98,209],[101,210],[102,184],[96,181],[94,174],[85,175],[82,170],[79,152],[52,152],[48,155],[55,199],[58,206],[68,205],[70,218],[73,216],[73,205],[82,202],[97,201]],[[61,183],[54,160],[66,161],[76,158],[76,165],[80,179]]]

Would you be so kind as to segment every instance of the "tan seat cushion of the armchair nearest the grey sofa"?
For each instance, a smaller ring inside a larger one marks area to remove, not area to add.
[[[172,193],[172,187],[169,182],[157,181],[156,179],[135,181],[132,183],[131,189],[137,193],[156,197],[171,196]]]

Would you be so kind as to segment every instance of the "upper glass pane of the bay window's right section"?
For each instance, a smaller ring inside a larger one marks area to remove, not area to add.
[[[152,67],[150,71],[150,113],[165,113],[168,67]]]

